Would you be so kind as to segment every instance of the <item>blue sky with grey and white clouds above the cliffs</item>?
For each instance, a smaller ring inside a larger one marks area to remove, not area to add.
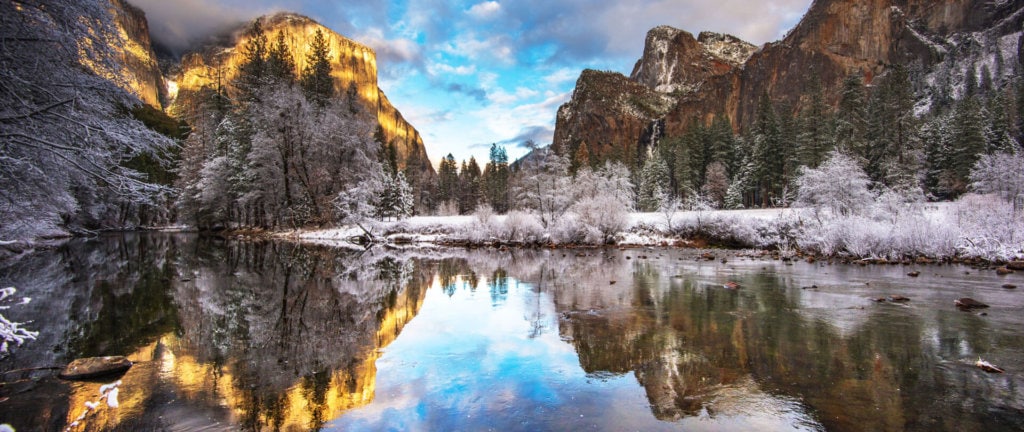
[[[377,51],[378,80],[435,165],[480,165],[492,143],[514,160],[551,142],[584,69],[629,75],[662,25],[780,39],[810,0],[130,0],[174,49],[275,11],[307,15]]]

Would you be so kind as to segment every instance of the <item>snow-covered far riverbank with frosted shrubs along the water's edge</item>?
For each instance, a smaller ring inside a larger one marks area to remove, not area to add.
[[[880,206],[881,207],[881,206]],[[571,219],[571,218],[569,218]],[[902,205],[872,214],[833,216],[810,209],[632,213],[608,243],[620,246],[718,246],[852,258],[1024,258],[1024,220],[997,200],[969,197],[956,203]],[[671,223],[670,223],[671,220]],[[574,220],[548,227],[528,213],[426,216],[367,226],[389,245],[568,246],[594,245],[593,229]],[[355,226],[297,230],[280,236],[307,243],[359,247]],[[600,237],[600,236],[598,236]]]

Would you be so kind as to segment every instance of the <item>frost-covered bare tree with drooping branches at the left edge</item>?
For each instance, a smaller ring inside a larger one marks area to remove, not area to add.
[[[128,114],[102,0],[0,2],[0,235],[117,226],[168,189],[125,167],[166,162],[169,138]]]

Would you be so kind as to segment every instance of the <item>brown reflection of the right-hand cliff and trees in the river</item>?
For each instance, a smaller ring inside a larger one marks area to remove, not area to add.
[[[583,254],[474,253],[447,271],[500,268],[550,293],[559,333],[583,370],[632,373],[662,420],[808,412],[814,419],[792,424],[884,431],[1015,429],[1024,419],[1018,380],[940,360],[992,349],[991,329],[978,316],[893,319],[883,308],[859,311],[859,323],[845,329],[805,313],[804,292],[760,266],[737,274],[717,263],[676,264],[658,252],[642,252],[646,260],[636,251]],[[726,279],[745,288],[724,290]]]

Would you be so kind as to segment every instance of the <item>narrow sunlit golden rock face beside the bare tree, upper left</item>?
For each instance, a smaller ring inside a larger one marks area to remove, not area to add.
[[[124,0],[111,0],[114,23],[121,33],[121,64],[117,77],[122,86],[142,102],[160,107],[164,96],[164,76],[150,40],[150,24],[141,9]]]

